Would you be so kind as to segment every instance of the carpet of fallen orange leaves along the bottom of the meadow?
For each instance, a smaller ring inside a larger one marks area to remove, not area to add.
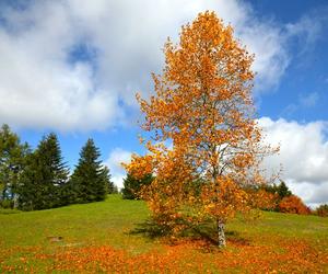
[[[263,244],[266,242],[266,244]],[[213,249],[206,241],[161,244],[142,253],[110,246],[0,250],[5,258],[20,252],[20,263],[1,263],[1,273],[326,273],[327,252],[301,239],[271,235],[250,242],[230,239],[231,249]],[[30,255],[28,255],[30,254]],[[31,255],[32,254],[32,255]]]

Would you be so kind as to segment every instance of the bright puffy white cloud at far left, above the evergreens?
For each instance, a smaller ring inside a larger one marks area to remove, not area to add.
[[[16,31],[0,28],[0,122],[87,130],[120,116],[116,99],[95,88],[91,66],[67,62],[78,36],[65,7],[33,5],[7,16]]]

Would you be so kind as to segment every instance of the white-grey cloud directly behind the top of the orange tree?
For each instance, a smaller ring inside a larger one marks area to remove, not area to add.
[[[104,53],[101,77],[106,78],[109,87],[129,91],[124,94],[128,103],[132,103],[131,92],[150,89],[150,71],[161,70],[161,48],[166,37],[177,42],[181,24],[206,10],[215,11],[226,24],[231,23],[236,36],[255,53],[253,68],[258,72],[258,90],[277,84],[290,61],[286,39],[292,35],[283,25],[257,19],[251,5],[242,1],[122,0],[83,5],[81,1],[71,0],[70,7],[75,16],[83,19],[83,27],[92,33],[93,42]],[[118,66],[113,67],[113,64]]]

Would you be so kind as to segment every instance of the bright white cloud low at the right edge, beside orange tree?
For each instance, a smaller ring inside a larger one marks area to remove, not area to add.
[[[266,141],[280,145],[280,153],[268,157],[265,167],[279,170],[282,179],[305,203],[328,203],[328,122],[301,124],[285,119],[259,119]]]

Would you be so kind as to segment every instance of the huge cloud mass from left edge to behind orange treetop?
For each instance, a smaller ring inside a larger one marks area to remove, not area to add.
[[[31,1],[1,5],[0,123],[60,130],[103,129],[122,123],[134,92],[151,91],[161,48],[198,12],[215,11],[256,54],[257,90],[277,84],[290,56],[288,28],[257,18],[242,1]],[[82,53],[74,53],[82,48]],[[86,56],[85,50],[92,54]],[[83,57],[84,56],[84,57]]]

